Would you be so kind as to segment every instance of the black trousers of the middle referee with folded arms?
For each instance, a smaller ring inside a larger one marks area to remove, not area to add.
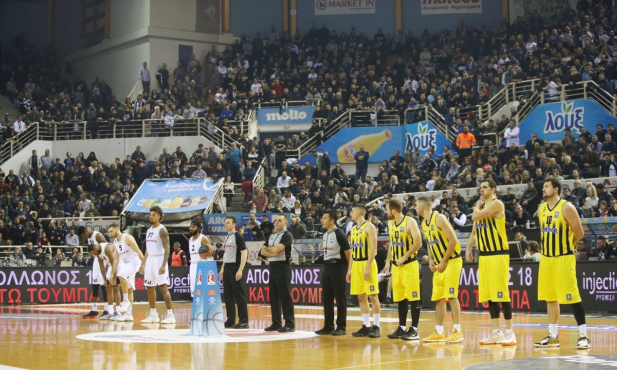
[[[291,265],[285,261],[270,262],[270,310],[272,323],[281,323],[281,309],[287,327],[295,328],[294,301],[291,298]]]

